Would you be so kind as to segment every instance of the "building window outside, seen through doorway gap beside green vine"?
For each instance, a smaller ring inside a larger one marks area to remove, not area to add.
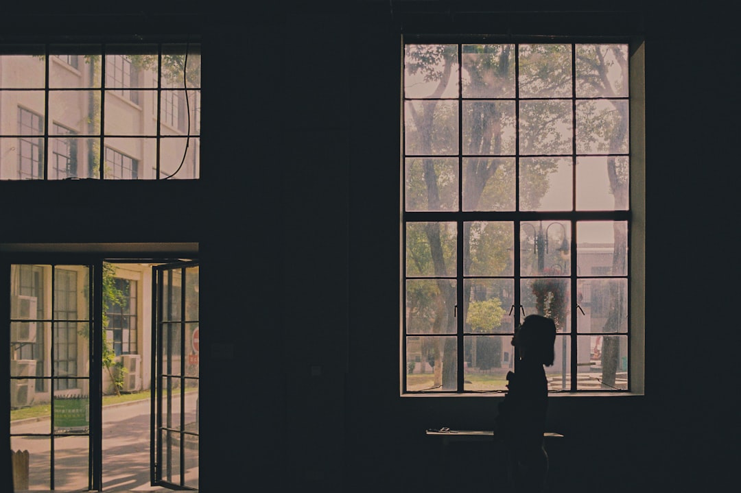
[[[113,284],[122,295],[122,303],[107,309],[106,338],[116,356],[133,355],[137,352],[136,281],[114,278]]]

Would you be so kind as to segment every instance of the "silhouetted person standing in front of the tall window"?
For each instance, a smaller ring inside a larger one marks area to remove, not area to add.
[[[548,410],[548,380],[543,366],[554,363],[556,324],[528,315],[515,330],[512,345],[519,353],[516,372],[508,372],[509,389],[499,404],[496,435],[507,449],[508,476],[514,492],[543,492],[548,454],[543,433]]]

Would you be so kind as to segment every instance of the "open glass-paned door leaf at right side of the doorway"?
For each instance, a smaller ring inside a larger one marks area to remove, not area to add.
[[[152,483],[198,489],[199,266],[153,266]]]

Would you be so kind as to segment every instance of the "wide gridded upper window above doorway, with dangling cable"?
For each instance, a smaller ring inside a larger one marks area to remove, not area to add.
[[[0,180],[200,178],[199,44],[0,45],[0,73]]]

